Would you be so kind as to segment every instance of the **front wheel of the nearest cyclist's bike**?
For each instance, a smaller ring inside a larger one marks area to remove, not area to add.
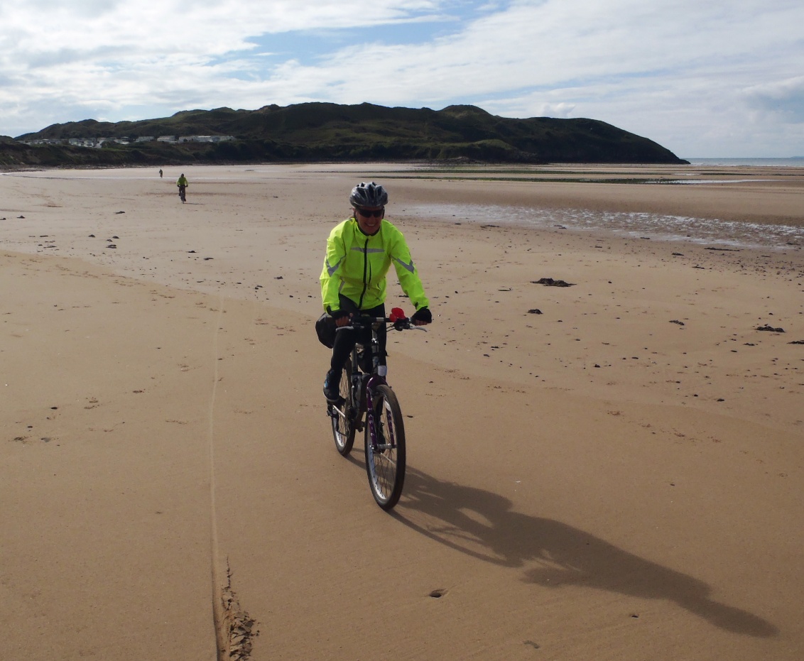
[[[399,502],[404,485],[404,423],[399,400],[390,386],[371,392],[365,429],[366,473],[371,495],[384,510]]]

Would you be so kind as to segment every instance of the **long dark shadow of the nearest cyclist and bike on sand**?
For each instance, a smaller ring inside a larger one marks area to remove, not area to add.
[[[401,523],[449,548],[504,567],[526,567],[523,581],[557,588],[584,585],[638,598],[675,601],[721,629],[756,638],[779,630],[757,615],[709,597],[704,581],[662,567],[566,523],[512,511],[501,495],[445,482],[408,466]],[[421,525],[416,511],[433,519]],[[426,527],[425,527],[426,526]],[[535,566],[530,566],[535,565]]]

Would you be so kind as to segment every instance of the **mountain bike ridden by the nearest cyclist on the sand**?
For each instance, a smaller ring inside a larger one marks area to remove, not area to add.
[[[415,326],[400,308],[390,317],[355,317],[337,330],[371,330],[371,343],[355,343],[341,374],[338,401],[326,405],[332,422],[335,448],[347,457],[355,444],[355,432],[363,431],[366,474],[371,495],[385,511],[399,502],[404,485],[405,439],[402,410],[396,394],[379,368],[377,330],[425,330]],[[365,415],[365,421],[363,416]]]

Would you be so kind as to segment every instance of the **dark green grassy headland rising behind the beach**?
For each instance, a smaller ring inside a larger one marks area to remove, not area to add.
[[[140,142],[100,149],[21,145],[35,139],[231,136],[219,143]],[[257,110],[189,110],[142,121],[54,124],[0,142],[0,165],[168,162],[449,160],[683,163],[670,150],[592,119],[497,117],[472,105],[442,110],[306,103]]]

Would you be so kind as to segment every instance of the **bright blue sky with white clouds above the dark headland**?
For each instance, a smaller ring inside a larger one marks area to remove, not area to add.
[[[804,156],[801,0],[2,0],[0,134],[306,101],[592,117]]]

